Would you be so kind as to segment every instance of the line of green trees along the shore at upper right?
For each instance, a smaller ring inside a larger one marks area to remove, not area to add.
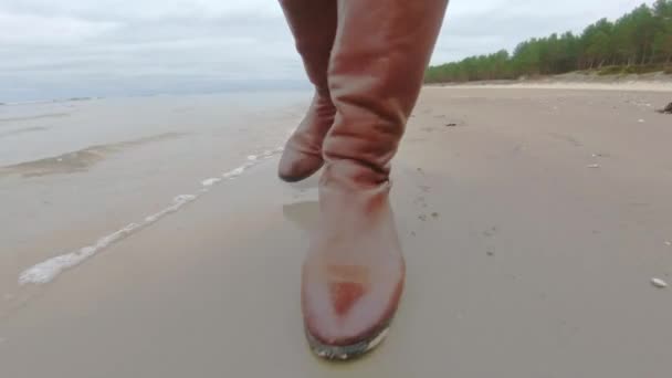
[[[600,73],[672,73],[672,0],[642,4],[615,22],[588,25],[581,34],[566,32],[533,38],[513,53],[466,57],[430,66],[426,82],[468,82],[553,75],[581,70]]]

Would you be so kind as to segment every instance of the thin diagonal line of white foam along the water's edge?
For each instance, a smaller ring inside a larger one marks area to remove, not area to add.
[[[23,271],[19,275],[19,283],[21,285],[24,285],[24,284],[45,284],[45,283],[51,282],[59,274],[63,273],[64,271],[66,271],[71,267],[80,265],[85,260],[94,256],[95,254],[97,254],[102,250],[106,249],[111,244],[148,227],[151,223],[157,222],[158,220],[160,220],[161,218],[164,218],[170,213],[177,212],[181,207],[183,207],[185,204],[187,204],[189,202],[197,200],[202,193],[208,192],[210,187],[222,181],[223,179],[237,178],[237,177],[241,176],[242,174],[244,174],[244,171],[248,170],[249,168],[259,165],[260,162],[262,162],[265,159],[272,158],[276,154],[282,153],[282,150],[283,150],[282,147],[273,149],[273,150],[266,150],[262,154],[261,159],[259,158],[258,155],[250,155],[248,157],[248,161],[245,164],[243,164],[242,166],[234,168],[228,172],[224,172],[222,175],[222,178],[213,177],[213,178],[209,178],[209,179],[201,181],[202,188],[197,192],[197,195],[177,196],[172,199],[172,202],[169,207],[167,207],[167,208],[162,209],[161,211],[156,212],[151,216],[145,217],[145,219],[140,223],[129,223],[128,225],[124,227],[123,229],[117,230],[108,235],[105,235],[105,237],[98,239],[92,245],[83,246],[77,251],[65,253],[65,254],[49,259],[46,261],[43,261],[36,265],[33,265],[32,267],[29,267],[28,270]],[[252,158],[252,157],[254,157],[254,158]]]

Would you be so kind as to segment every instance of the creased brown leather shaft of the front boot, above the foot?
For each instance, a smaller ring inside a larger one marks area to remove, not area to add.
[[[356,162],[387,176],[420,93],[448,0],[337,3],[338,27],[328,69],[337,114],[324,144],[325,159]]]

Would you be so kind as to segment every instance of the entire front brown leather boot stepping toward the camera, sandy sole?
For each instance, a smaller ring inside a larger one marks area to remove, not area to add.
[[[336,122],[323,145],[322,223],[303,267],[308,343],[357,357],[382,340],[405,262],[388,195],[403,134],[448,0],[338,0],[328,78]]]

